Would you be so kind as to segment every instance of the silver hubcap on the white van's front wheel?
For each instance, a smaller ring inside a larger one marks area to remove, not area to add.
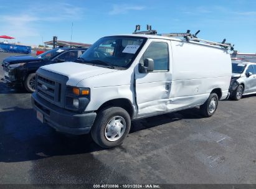
[[[126,129],[126,122],[121,116],[115,116],[110,119],[105,127],[105,137],[108,141],[117,141],[123,136]]]

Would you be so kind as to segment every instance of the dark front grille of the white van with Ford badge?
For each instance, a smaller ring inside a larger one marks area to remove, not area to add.
[[[39,69],[36,76],[36,93],[45,100],[64,108],[66,76]]]

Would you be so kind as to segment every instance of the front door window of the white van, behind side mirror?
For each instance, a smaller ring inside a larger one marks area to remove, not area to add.
[[[140,63],[143,64],[146,58],[154,60],[154,71],[168,71],[169,70],[169,52],[168,44],[164,42],[151,42],[141,57]]]

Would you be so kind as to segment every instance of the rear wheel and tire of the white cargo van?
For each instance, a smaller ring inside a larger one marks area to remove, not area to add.
[[[202,116],[209,118],[217,110],[219,104],[219,97],[216,93],[211,93],[207,101],[200,106]]]

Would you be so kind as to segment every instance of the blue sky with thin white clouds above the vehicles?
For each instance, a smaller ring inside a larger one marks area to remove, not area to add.
[[[73,22],[73,32],[72,32]],[[201,39],[235,44],[235,50],[256,53],[255,0],[73,0],[1,1],[0,35],[17,42],[71,40],[93,44],[100,37],[131,34],[135,25],[152,25],[158,33],[201,30]]]

